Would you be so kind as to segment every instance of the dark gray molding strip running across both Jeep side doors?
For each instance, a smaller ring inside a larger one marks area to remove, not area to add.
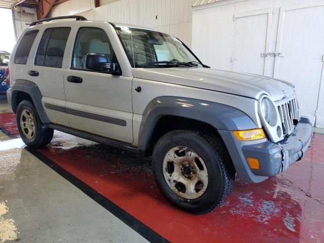
[[[84,118],[88,118],[88,119],[98,120],[98,121],[102,121],[104,123],[110,123],[110,124],[114,124],[114,125],[118,125],[118,126],[122,126],[122,127],[125,127],[127,125],[126,120],[113,118],[113,117],[109,117],[109,116],[93,114],[93,113],[80,111],[80,110],[74,110],[74,109],[65,108],[62,106],[52,105],[52,104],[48,104],[48,103],[45,103],[45,107],[50,110],[64,112],[66,114],[80,116],[80,117],[84,117]]]

